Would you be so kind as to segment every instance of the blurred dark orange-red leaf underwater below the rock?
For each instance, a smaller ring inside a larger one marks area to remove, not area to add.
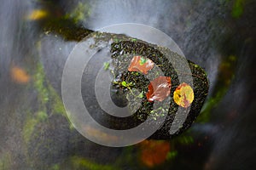
[[[154,167],[166,161],[170,144],[161,140],[144,140],[141,144],[141,161],[147,167]]]

